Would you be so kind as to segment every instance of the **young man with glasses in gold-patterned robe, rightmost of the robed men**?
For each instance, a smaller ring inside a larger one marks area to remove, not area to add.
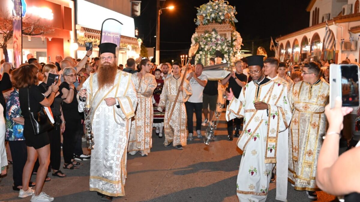
[[[320,66],[311,62],[302,69],[304,80],[294,84],[289,93],[293,109],[289,127],[288,180],[295,190],[307,190],[316,199],[316,164],[322,137],[325,134],[325,106],[329,98],[329,84],[318,79]]]

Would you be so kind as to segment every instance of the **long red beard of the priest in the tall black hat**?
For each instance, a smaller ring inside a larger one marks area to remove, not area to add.
[[[117,72],[117,66],[108,62],[104,62],[96,72],[98,74],[99,89],[111,87],[114,85]]]

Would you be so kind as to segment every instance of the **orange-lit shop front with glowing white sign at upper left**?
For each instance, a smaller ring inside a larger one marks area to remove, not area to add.
[[[0,1],[1,8],[13,9],[12,0]],[[46,31],[42,35],[22,37],[22,62],[27,54],[33,54],[39,62],[55,61],[56,55],[75,57],[75,50],[71,43],[74,42],[74,2],[71,0],[22,0],[23,29],[28,24],[38,24]],[[11,16],[11,15],[10,15]],[[24,22],[24,19],[27,19]],[[34,30],[32,33],[40,33]],[[8,43],[9,61],[13,61],[12,41]],[[4,55],[1,51],[0,58]]]

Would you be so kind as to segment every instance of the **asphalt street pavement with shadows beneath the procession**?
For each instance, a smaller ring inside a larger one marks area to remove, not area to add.
[[[222,113],[216,137],[210,146],[195,136],[193,141],[188,141],[184,150],[166,148],[163,146],[164,138],[158,138],[153,132],[153,147],[149,156],[142,157],[139,153],[128,155],[126,196],[114,198],[113,201],[238,202],[236,181],[241,150],[236,146],[237,138],[227,141],[224,114]],[[206,127],[202,127],[202,133],[205,130]],[[85,142],[83,147],[87,152]],[[43,191],[55,197],[55,202],[100,201],[96,192],[89,191],[90,161],[82,163],[84,166],[78,170],[61,169],[67,174],[66,178],[49,174],[51,181],[45,183]],[[30,197],[18,198],[18,192],[12,190],[11,165],[8,176],[1,180],[0,201],[30,201]],[[35,182],[35,176],[32,176],[32,181]],[[276,182],[270,184],[267,202],[276,201],[275,186]],[[332,201],[335,198],[325,192],[317,193],[318,201]],[[290,183],[287,198],[289,202],[313,201],[307,198],[305,192],[294,190]]]

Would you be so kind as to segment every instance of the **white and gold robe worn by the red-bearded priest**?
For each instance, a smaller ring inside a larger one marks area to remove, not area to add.
[[[97,73],[84,82],[87,105],[91,107],[90,120],[94,133],[94,150],[90,162],[90,191],[108,196],[125,196],[126,150],[129,142],[131,117],[137,98],[131,74],[118,70],[114,86],[98,88]],[[114,97],[117,104],[107,106],[104,99]],[[78,100],[78,110],[84,102]],[[120,106],[120,107],[118,107]]]

